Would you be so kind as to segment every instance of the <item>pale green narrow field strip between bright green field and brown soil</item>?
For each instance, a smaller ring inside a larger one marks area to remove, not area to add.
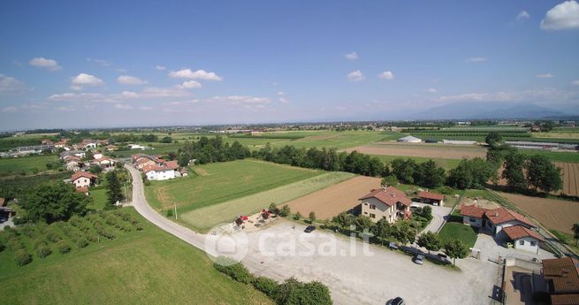
[[[309,179],[293,182],[283,187],[276,187],[261,193],[251,194],[231,201],[192,210],[180,215],[179,220],[185,225],[205,232],[217,224],[231,222],[235,220],[235,217],[240,215],[252,215],[263,208],[268,208],[271,202],[279,206],[282,203],[290,202],[304,195],[308,197],[308,194],[317,194],[323,192],[325,189],[331,188],[331,186],[335,187],[336,184],[341,185],[345,183],[340,183],[341,181],[352,179],[354,176],[354,174],[349,172],[326,172]],[[378,180],[377,185],[379,186],[379,184],[380,182]],[[322,189],[322,191],[319,191],[320,189]]]

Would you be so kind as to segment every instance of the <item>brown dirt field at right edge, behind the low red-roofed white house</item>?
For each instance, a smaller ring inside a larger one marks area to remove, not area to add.
[[[571,227],[579,220],[579,202],[499,193],[549,229],[572,234]]]

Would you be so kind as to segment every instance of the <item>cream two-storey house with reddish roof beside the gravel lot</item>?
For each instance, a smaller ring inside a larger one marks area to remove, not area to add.
[[[374,189],[362,196],[360,201],[362,215],[369,217],[374,222],[387,219],[392,224],[399,218],[408,219],[410,217],[412,201],[396,187]]]

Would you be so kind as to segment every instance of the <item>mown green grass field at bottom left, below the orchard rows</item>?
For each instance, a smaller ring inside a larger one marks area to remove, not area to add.
[[[144,221],[116,240],[18,267],[0,252],[4,304],[271,304],[219,273],[201,250]]]

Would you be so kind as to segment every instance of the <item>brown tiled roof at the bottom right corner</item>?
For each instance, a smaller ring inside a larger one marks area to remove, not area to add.
[[[579,261],[575,258],[544,259],[543,274],[545,279],[549,280],[551,294],[575,295],[577,298],[579,294]],[[560,298],[562,300],[557,304],[573,304],[564,302],[567,298],[563,295]]]

